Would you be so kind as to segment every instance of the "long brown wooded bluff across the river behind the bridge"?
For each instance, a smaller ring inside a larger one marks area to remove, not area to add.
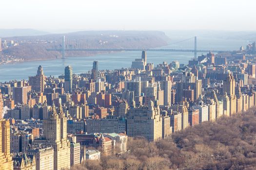
[[[3,54],[22,58],[25,61],[60,58],[60,51],[46,51],[47,48],[61,48],[62,36],[66,36],[66,48],[155,48],[167,45],[169,37],[159,31],[82,31],[67,34],[46,34],[38,36],[14,36],[2,38],[15,40],[19,46],[3,50]],[[104,51],[66,51],[67,56],[87,56]]]

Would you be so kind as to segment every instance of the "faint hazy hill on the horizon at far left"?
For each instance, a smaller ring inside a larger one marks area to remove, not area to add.
[[[33,30],[33,29],[0,29],[0,37],[10,36],[34,36],[50,34],[48,32]]]

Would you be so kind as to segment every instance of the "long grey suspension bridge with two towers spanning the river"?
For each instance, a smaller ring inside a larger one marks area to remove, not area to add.
[[[126,49],[126,48],[81,48],[79,45],[77,45],[76,48],[73,48],[71,45],[71,48],[69,45],[66,45],[65,36],[62,37],[62,44],[61,48],[52,48],[52,49],[46,49],[47,51],[61,51],[62,52],[62,58],[65,58],[65,51],[169,51],[169,52],[193,52],[194,57],[197,57],[197,52],[231,52],[231,51],[221,51],[221,50],[198,50],[197,49],[197,36],[188,38],[185,40],[177,41],[171,44],[177,44],[181,43],[190,39],[194,39],[194,49]],[[67,46],[67,47],[66,47]]]

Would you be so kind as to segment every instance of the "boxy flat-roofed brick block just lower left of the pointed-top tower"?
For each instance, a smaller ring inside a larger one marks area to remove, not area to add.
[[[27,104],[27,86],[13,87],[14,104]]]

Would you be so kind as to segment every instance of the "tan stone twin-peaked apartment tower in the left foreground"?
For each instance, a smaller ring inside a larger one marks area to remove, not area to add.
[[[55,105],[52,106],[52,114],[49,119],[43,121],[45,144],[54,149],[54,170],[70,168],[70,141],[67,140],[67,118],[59,108],[57,114]]]

